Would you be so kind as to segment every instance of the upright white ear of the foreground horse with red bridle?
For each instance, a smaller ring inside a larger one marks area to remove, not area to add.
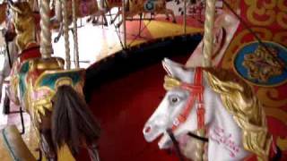
[[[183,65],[173,62],[168,58],[162,60],[162,66],[171,77],[178,78],[178,74],[183,72]]]

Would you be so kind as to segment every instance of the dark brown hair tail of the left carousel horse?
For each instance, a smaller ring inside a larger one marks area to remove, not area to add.
[[[95,143],[100,137],[100,125],[91,114],[83,97],[71,86],[57,88],[52,114],[52,137],[56,148],[64,144],[73,155],[79,153],[83,141]]]

